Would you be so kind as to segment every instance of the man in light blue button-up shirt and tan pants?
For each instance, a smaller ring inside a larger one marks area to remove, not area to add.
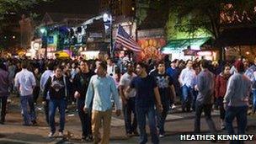
[[[109,143],[110,123],[112,115],[111,95],[116,105],[116,115],[120,115],[120,99],[115,81],[112,77],[107,76],[107,65],[104,62],[99,63],[97,67],[97,75],[91,77],[88,85],[88,91],[85,97],[83,110],[88,113],[88,108],[93,101],[92,114],[92,131],[94,141],[99,143],[99,127],[103,120],[103,137],[100,143]]]

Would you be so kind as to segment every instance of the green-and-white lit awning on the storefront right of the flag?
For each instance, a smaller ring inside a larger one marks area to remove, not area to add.
[[[170,53],[171,51],[183,51],[190,47],[191,50],[200,50],[200,46],[204,45],[211,37],[195,38],[195,39],[182,39],[182,40],[169,40],[168,45],[165,45],[161,51],[163,53]]]

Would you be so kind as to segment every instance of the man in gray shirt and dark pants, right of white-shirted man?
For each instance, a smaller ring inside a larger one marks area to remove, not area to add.
[[[195,86],[199,92],[195,102],[195,132],[200,132],[200,116],[204,110],[205,120],[211,133],[216,134],[216,126],[211,119],[211,107],[214,97],[214,74],[208,70],[208,66],[208,61],[200,61],[201,72],[198,75],[198,83]]]

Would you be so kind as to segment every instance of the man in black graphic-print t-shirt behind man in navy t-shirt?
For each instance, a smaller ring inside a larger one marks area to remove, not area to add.
[[[152,75],[157,81],[157,87],[161,97],[161,103],[163,104],[163,112],[157,113],[157,125],[159,128],[159,137],[164,136],[164,122],[168,115],[170,107],[170,99],[174,96],[175,90],[173,87],[173,79],[169,77],[165,72],[164,61],[157,63],[157,73]],[[174,97],[175,98],[175,97]]]

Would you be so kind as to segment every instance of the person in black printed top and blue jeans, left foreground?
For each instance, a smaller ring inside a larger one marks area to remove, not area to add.
[[[63,136],[64,126],[65,126],[65,109],[66,109],[66,99],[67,99],[67,89],[70,83],[67,77],[63,75],[63,67],[57,66],[54,71],[54,75],[49,77],[45,83],[44,89],[44,101],[49,91],[50,101],[49,101],[49,123],[51,127],[51,132],[49,137],[55,136],[56,125],[55,125],[55,115],[56,108],[58,108],[60,113],[60,129],[59,136]]]

